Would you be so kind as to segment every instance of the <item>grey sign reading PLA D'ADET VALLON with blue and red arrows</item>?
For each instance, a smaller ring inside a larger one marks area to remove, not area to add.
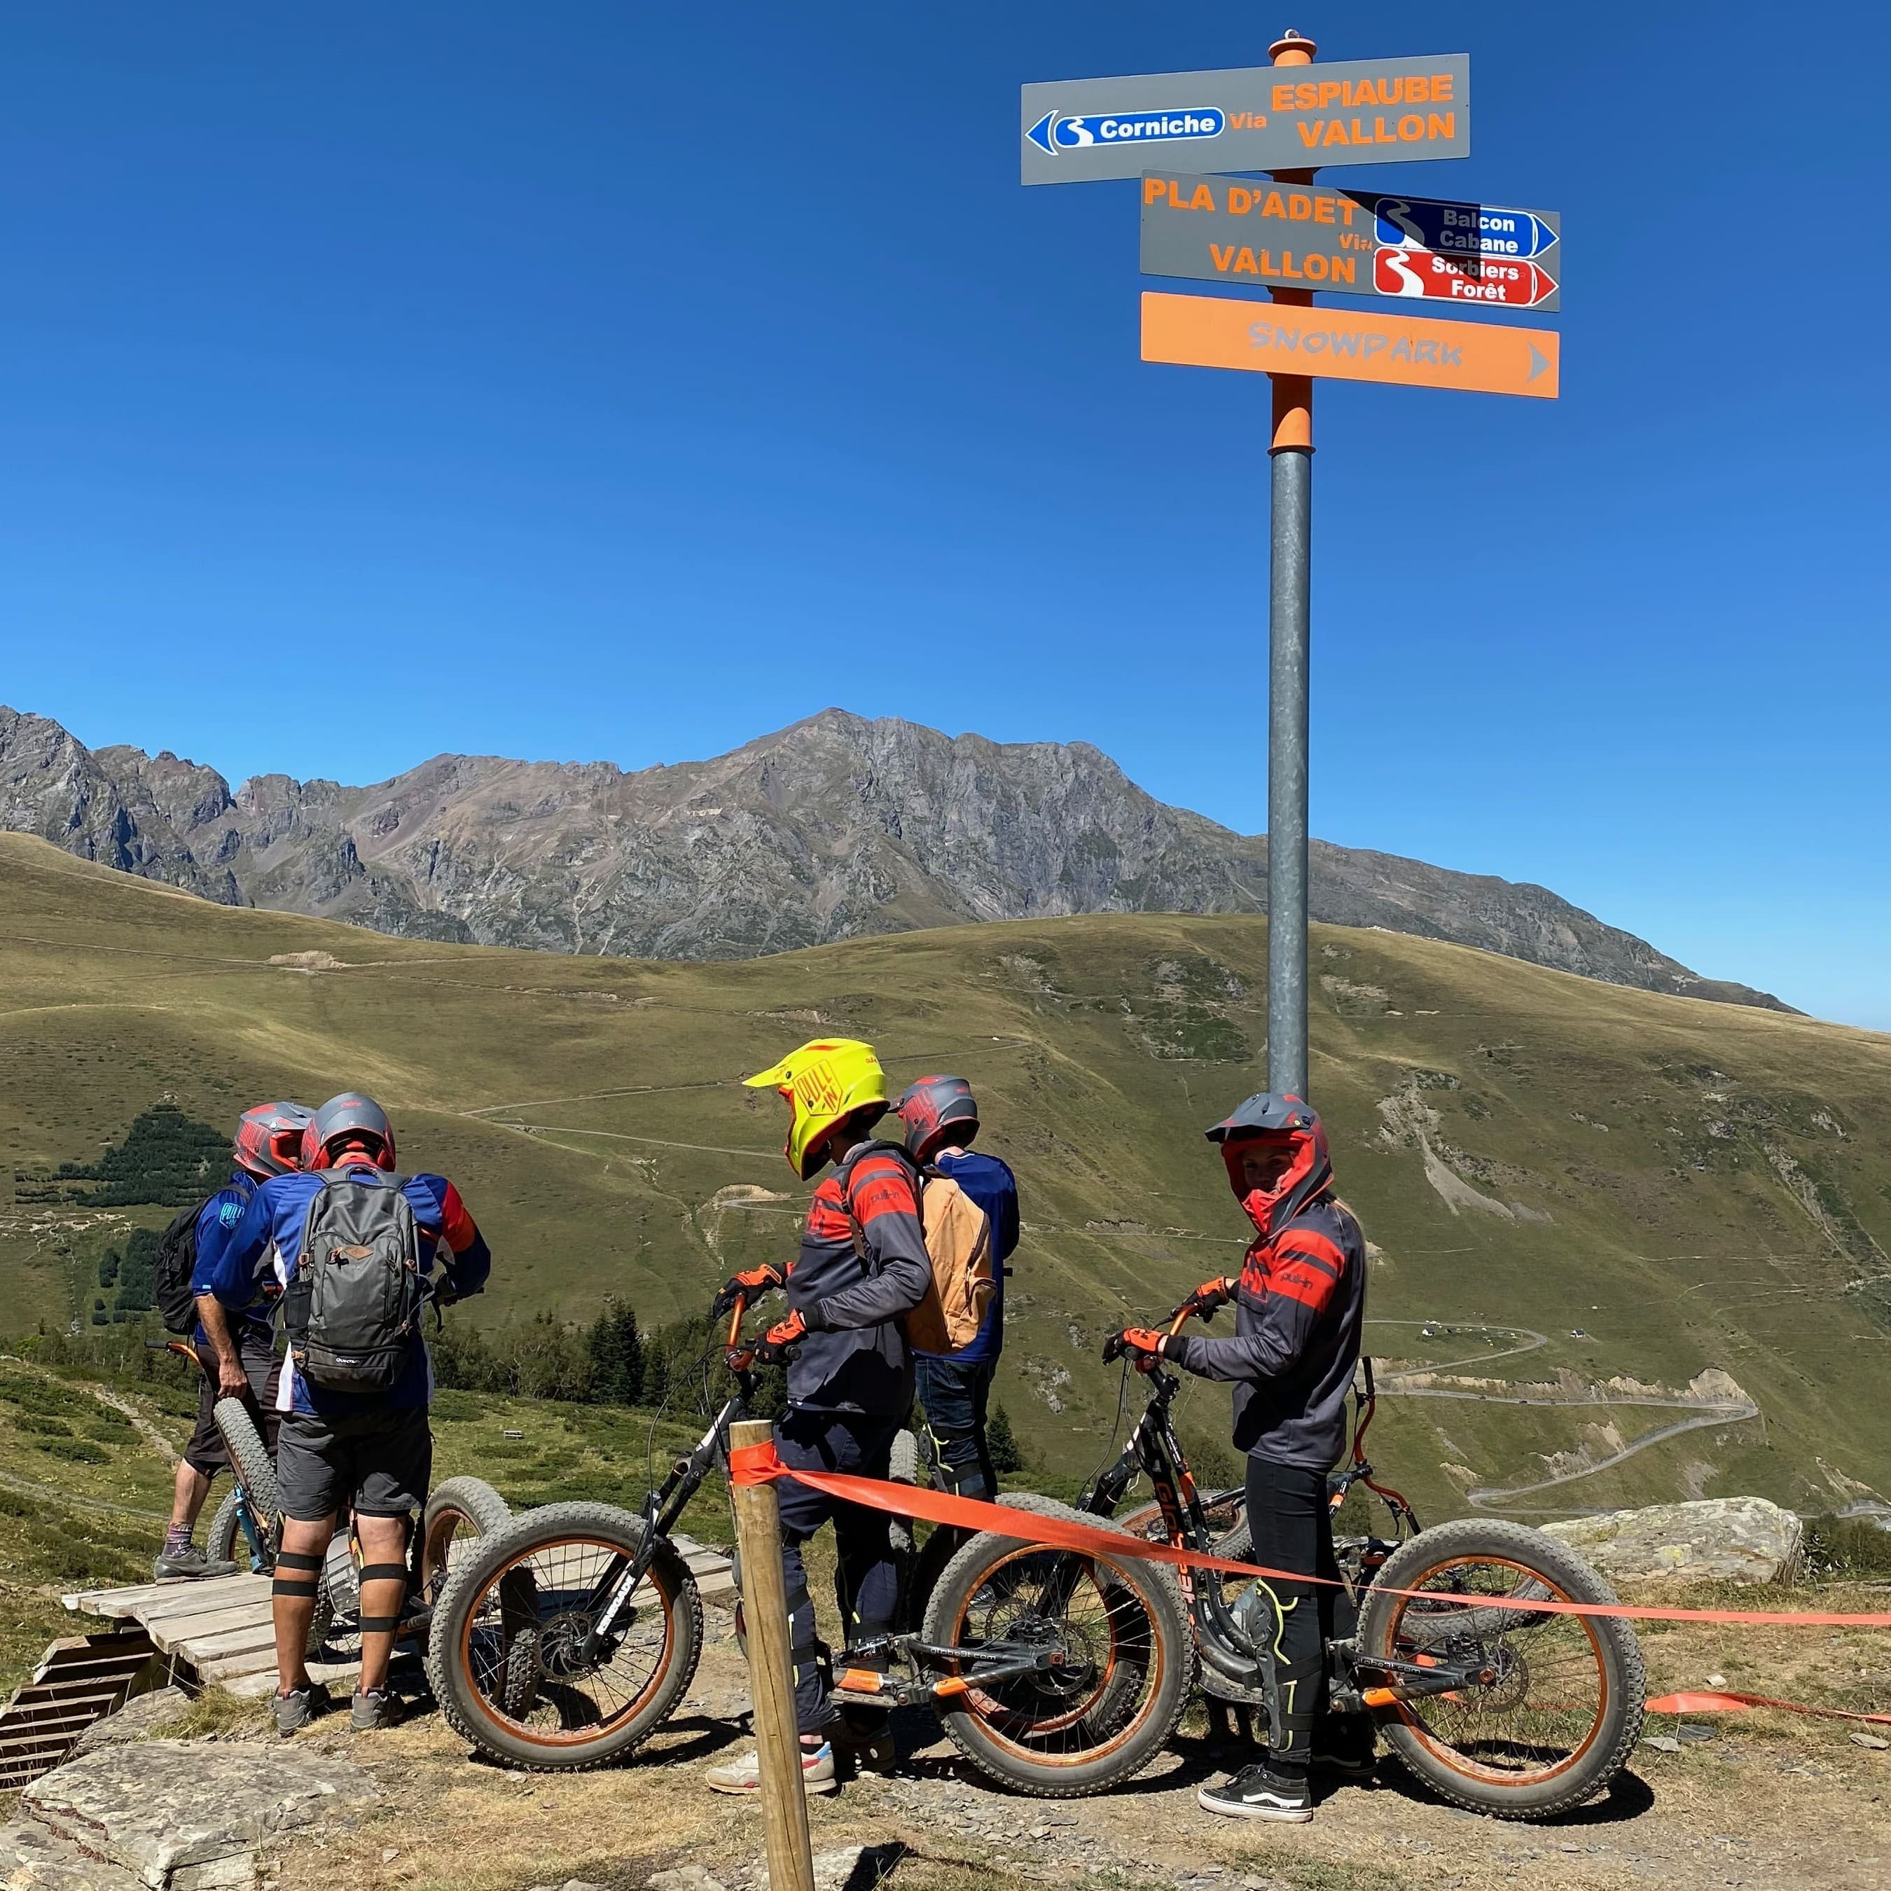
[[[1414,204],[1409,197],[1314,183],[1144,170],[1142,274],[1433,297],[1466,306],[1556,306],[1560,250],[1547,263],[1477,250],[1437,255],[1411,248],[1396,221],[1403,216],[1413,229],[1454,231],[1466,242],[1535,244],[1547,233],[1554,244],[1562,229],[1554,212],[1441,202],[1430,210],[1450,212],[1450,219],[1428,214],[1420,223],[1411,216]]]

